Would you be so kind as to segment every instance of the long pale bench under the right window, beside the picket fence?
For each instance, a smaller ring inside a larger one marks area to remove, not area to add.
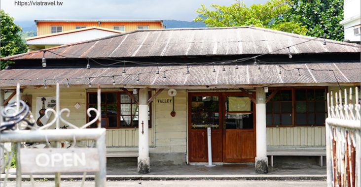
[[[267,146],[267,156],[320,156],[319,165],[323,166],[323,156],[326,156],[325,146]]]

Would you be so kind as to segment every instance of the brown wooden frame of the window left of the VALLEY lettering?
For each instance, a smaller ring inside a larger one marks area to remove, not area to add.
[[[86,109],[88,109],[89,108],[89,105],[94,105],[94,104],[92,104],[92,103],[89,103],[89,94],[97,94],[97,92],[96,91],[91,91],[91,92],[86,92]],[[131,104],[131,107],[133,107],[133,104],[136,104],[133,100],[132,100],[132,98],[130,98],[131,99],[131,103],[121,103],[120,102],[120,95],[121,94],[126,94],[124,91],[102,91],[102,93],[101,94],[116,94],[116,106],[117,106],[117,114],[116,114],[116,126],[114,126],[114,127],[109,127],[108,125],[109,124],[106,124],[106,126],[104,126],[104,127],[102,127],[102,128],[106,128],[106,129],[129,129],[129,128],[139,128],[139,126],[120,126],[120,118],[121,118],[121,115],[120,115],[120,105],[121,104]],[[149,93],[148,93],[148,96],[149,96],[149,98],[151,97],[151,91],[149,91]],[[137,98],[137,100],[139,100],[139,94],[138,94],[138,98]],[[101,103],[101,106],[103,106],[103,105],[107,105],[107,103],[105,103],[105,104],[102,104]],[[152,105],[152,102],[150,102],[149,103],[149,123],[148,123],[148,128],[151,128],[152,127],[152,107],[151,107],[151,105]],[[88,115],[87,114],[85,114],[85,116],[86,116],[86,123],[88,123],[90,120],[89,120],[89,118],[90,117],[88,117]],[[107,118],[107,116],[108,115],[106,115],[105,117],[103,117],[103,116],[101,116],[101,118],[102,118],[102,120],[104,120],[104,119],[106,119],[106,121],[108,121],[108,118]],[[129,116],[129,115],[128,115]],[[132,116],[132,115],[131,115]],[[138,111],[138,119],[139,119],[139,111]],[[89,126],[89,128],[92,128],[92,127],[90,127]]]

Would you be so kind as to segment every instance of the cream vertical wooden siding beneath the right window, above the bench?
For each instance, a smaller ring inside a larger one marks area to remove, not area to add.
[[[326,146],[325,126],[267,127],[267,146]]]

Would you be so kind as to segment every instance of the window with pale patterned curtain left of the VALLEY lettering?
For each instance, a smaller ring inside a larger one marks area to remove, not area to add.
[[[133,94],[138,98],[138,94]],[[150,97],[150,93],[149,93]],[[103,92],[101,94],[102,127],[105,128],[134,128],[138,127],[138,105],[125,92]],[[87,108],[97,108],[97,93],[87,93]],[[148,108],[148,125],[151,111]],[[87,122],[95,118],[95,113],[87,118]],[[96,127],[96,123],[91,127]]]

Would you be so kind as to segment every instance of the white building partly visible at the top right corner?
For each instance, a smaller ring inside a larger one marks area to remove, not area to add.
[[[340,24],[345,27],[345,41],[357,42],[361,41],[361,1],[360,0],[344,0],[343,20]]]

